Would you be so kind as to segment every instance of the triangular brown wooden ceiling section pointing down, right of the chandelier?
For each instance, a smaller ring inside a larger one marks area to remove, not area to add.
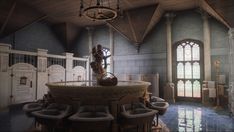
[[[126,36],[130,41],[139,45],[143,42],[144,37],[148,34],[148,26],[153,21],[157,5],[141,7],[128,10],[123,18],[108,22],[112,27],[117,29],[121,34]],[[121,24],[120,24],[121,23]]]

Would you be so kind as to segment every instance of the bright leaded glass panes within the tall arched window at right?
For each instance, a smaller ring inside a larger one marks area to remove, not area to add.
[[[185,41],[177,46],[177,94],[182,97],[201,97],[201,84],[199,80],[192,81],[191,79],[200,79],[200,46],[194,41]],[[193,82],[193,83],[192,83]],[[187,121],[189,124],[190,121]],[[192,123],[192,122],[191,122]],[[198,128],[199,129],[199,128]],[[189,130],[186,128],[186,130]]]

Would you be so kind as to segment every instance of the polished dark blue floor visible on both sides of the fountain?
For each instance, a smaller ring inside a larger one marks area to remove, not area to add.
[[[234,118],[227,110],[215,110],[197,103],[170,104],[160,119],[170,131],[234,131]],[[33,119],[22,111],[22,105],[0,110],[0,132],[25,132],[33,126]]]

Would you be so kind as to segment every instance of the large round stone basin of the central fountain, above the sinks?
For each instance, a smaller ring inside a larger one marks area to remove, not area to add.
[[[149,82],[119,81],[116,86],[100,86],[94,81],[69,81],[46,84],[53,97],[69,99],[105,98],[119,99],[125,95],[142,97]]]

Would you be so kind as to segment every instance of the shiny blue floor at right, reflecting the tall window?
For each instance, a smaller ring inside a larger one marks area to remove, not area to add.
[[[202,104],[179,102],[170,104],[160,116],[170,131],[234,132],[234,118],[227,110],[215,110]]]

